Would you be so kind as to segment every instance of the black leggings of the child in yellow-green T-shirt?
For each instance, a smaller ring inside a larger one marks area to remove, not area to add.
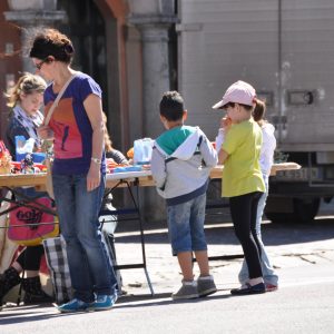
[[[232,220],[244,250],[249,278],[263,276],[259,261],[261,247],[255,230],[257,204],[262,194],[255,191],[229,198]]]

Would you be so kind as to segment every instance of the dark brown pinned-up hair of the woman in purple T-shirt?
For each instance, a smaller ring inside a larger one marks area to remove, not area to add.
[[[45,60],[52,56],[58,61],[70,63],[73,53],[72,42],[66,35],[47,28],[36,33],[29,57]]]

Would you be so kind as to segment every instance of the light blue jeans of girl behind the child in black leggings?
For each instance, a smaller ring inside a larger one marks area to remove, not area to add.
[[[257,216],[256,216],[256,235],[258,239],[258,244],[261,247],[261,267],[263,273],[263,278],[265,283],[278,285],[278,276],[275,274],[275,271],[273,268],[273,265],[271,264],[271,261],[268,258],[268,255],[266,253],[266,249],[264,247],[264,244],[262,242],[262,235],[261,235],[261,223],[262,223],[262,216],[264,213],[264,208],[266,205],[266,200],[268,197],[268,176],[263,175],[265,185],[266,185],[266,193],[264,193],[258,202],[257,206]],[[246,264],[246,261],[244,259],[242,269],[239,272],[239,282],[244,284],[248,279],[248,267]]]

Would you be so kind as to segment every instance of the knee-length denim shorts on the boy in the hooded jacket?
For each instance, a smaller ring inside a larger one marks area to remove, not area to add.
[[[167,207],[168,234],[173,255],[206,250],[204,234],[206,194]]]

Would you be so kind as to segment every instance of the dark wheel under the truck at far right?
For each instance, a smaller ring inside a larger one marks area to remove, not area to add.
[[[320,198],[294,198],[295,223],[311,223],[318,212]]]

